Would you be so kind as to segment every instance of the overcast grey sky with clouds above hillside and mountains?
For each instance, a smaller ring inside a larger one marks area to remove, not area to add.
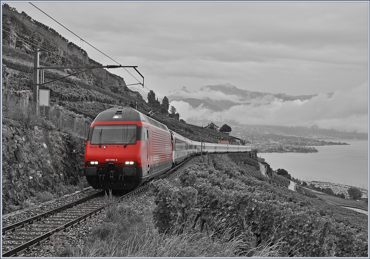
[[[32,2],[80,38],[28,2],[4,2],[54,28],[103,65],[116,63],[86,42],[121,65],[138,66],[145,86],[159,98],[184,86],[199,93],[202,86],[218,84],[295,96],[319,94],[302,103],[275,100],[205,116],[228,118],[247,109],[260,116],[245,116],[245,123],[305,122],[368,131],[367,1]],[[110,72],[124,77],[126,84],[137,83],[124,69]],[[335,106],[327,93],[334,93]],[[183,118],[206,113],[195,109],[190,115],[192,107],[176,105]]]

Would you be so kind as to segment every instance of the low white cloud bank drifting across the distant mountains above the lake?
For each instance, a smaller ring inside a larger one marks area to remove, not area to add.
[[[282,101],[269,104],[241,104],[228,110],[213,112],[203,106],[194,108],[184,101],[172,101],[181,118],[187,122],[236,123],[240,125],[313,126],[339,131],[368,132],[368,84],[347,91],[338,90],[331,96],[320,93],[312,99]]]

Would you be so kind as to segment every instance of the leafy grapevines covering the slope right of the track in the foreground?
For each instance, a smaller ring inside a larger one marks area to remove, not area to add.
[[[368,255],[366,215],[269,183],[232,159],[208,155],[179,180],[155,183],[159,230],[198,224],[221,234],[231,225],[254,238],[250,246],[283,241],[282,256]]]

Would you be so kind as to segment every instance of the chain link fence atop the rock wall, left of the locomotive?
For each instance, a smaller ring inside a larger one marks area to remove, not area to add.
[[[81,118],[67,115],[65,111],[50,106],[39,106],[27,97],[15,96],[3,90],[3,117],[11,120],[24,121],[36,125],[45,125],[48,129],[87,139],[90,123]]]

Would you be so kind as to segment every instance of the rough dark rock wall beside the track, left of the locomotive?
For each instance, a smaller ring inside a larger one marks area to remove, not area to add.
[[[4,209],[44,191],[63,195],[65,186],[77,185],[84,179],[84,139],[7,118],[2,120]],[[73,149],[77,155],[71,154]]]

